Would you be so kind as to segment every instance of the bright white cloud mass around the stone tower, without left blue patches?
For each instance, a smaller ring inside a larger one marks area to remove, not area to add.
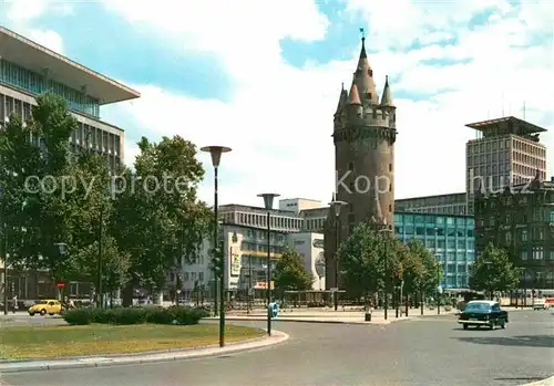
[[[304,69],[284,63],[281,39],[314,41],[326,34],[328,21],[312,2],[104,2],[167,44],[217,54],[237,85],[229,103],[134,85],[142,97],[117,107],[122,116],[135,119],[127,132],[179,134],[199,146],[233,147],[222,161],[222,202],[256,204],[260,190],[329,199],[335,178],[332,114],[358,49],[345,62]],[[349,12],[362,12],[371,27],[368,48],[378,50],[370,61],[379,91],[389,74],[396,81],[393,93],[430,95],[424,102],[397,100],[398,197],[464,190],[464,144],[474,136],[464,127],[470,122],[497,117],[502,109],[522,116],[525,101],[526,118],[554,129],[547,114],[554,100],[552,42],[520,46],[541,31],[534,25],[548,25],[547,9],[537,11],[533,2],[514,8],[501,0],[378,3],[351,1]],[[470,29],[469,21],[486,9],[496,18]],[[452,38],[451,45],[432,44]],[[408,51],[414,39],[432,45]],[[439,67],[422,63],[429,60],[465,61]],[[444,91],[437,95],[439,90]],[[550,135],[543,142],[553,143]],[[131,154],[127,150],[126,159]],[[209,165],[208,156],[202,159]],[[201,194],[212,201],[211,174]]]

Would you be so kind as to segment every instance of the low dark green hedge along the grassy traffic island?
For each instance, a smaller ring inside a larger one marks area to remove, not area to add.
[[[189,306],[172,306],[168,309],[158,306],[115,307],[111,310],[101,309],[73,309],[64,311],[63,320],[72,325],[100,324],[197,324],[201,319],[209,316],[204,309]]]

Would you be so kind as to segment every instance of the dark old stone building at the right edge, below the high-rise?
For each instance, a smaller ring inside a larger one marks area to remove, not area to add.
[[[492,242],[522,269],[521,288],[554,289],[554,178],[478,192],[474,205],[478,254]]]

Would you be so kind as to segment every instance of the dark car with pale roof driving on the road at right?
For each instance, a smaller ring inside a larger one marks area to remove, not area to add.
[[[468,330],[469,326],[488,326],[493,330],[495,326],[505,328],[507,323],[507,311],[502,310],[494,301],[474,300],[465,304],[460,313],[458,323]]]

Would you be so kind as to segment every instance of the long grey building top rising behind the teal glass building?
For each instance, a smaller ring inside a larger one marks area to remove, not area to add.
[[[465,192],[423,196],[394,200],[396,211],[435,215],[468,215]]]

